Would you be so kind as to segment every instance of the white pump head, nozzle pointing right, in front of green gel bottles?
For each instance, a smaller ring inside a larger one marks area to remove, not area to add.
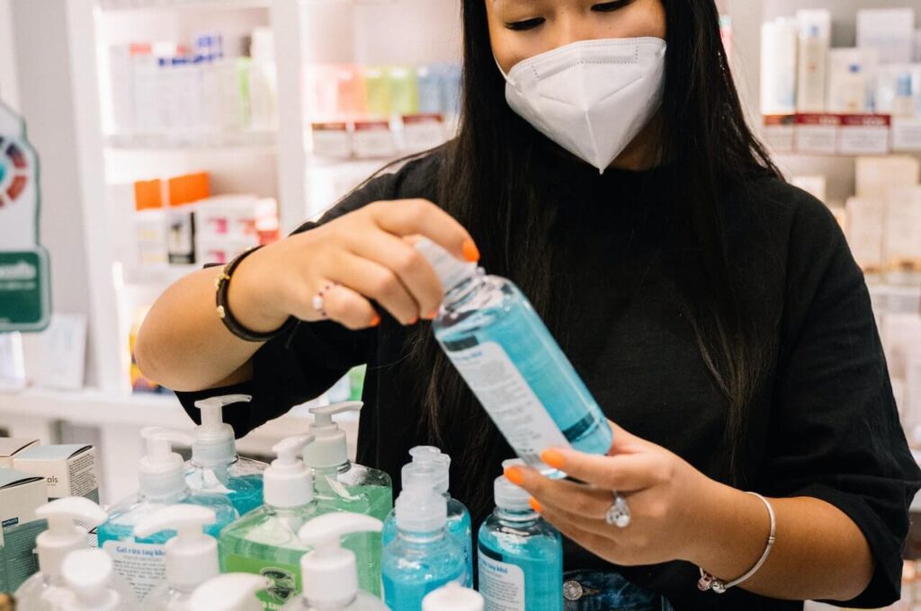
[[[311,608],[348,605],[358,595],[355,553],[344,549],[340,538],[351,533],[379,533],[379,519],[361,513],[326,513],[300,527],[301,543],[313,548],[300,559],[304,601]]]

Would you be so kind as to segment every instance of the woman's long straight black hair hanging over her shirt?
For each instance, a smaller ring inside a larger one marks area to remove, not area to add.
[[[746,125],[720,39],[714,0],[661,0],[668,52],[659,112],[662,183],[670,189],[685,254],[681,301],[702,358],[727,403],[727,479],[738,478],[745,411],[762,382],[768,344],[747,325],[746,306],[727,254],[717,201],[759,176],[778,177]],[[484,266],[519,284],[548,327],[565,335],[565,307],[551,282],[547,235],[553,211],[534,179],[547,141],[507,105],[495,66],[484,0],[462,0],[463,92],[456,139],[443,152],[439,205],[466,226]],[[561,342],[562,343],[562,342]],[[564,343],[565,346],[565,343]],[[501,441],[469,389],[438,349],[427,326],[411,331],[407,354],[419,404],[421,435],[447,444],[452,477],[474,515],[489,505]],[[419,372],[431,372],[419,385]]]

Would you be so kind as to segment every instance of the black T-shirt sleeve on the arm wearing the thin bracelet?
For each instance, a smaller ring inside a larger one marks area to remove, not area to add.
[[[765,493],[840,509],[876,569],[845,606],[899,597],[921,472],[905,442],[863,274],[832,214],[802,195],[790,230]],[[841,603],[836,603],[841,605]]]

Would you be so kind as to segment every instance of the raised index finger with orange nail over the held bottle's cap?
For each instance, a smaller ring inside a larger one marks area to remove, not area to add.
[[[421,235],[437,242],[458,259],[480,259],[479,250],[463,225],[426,200],[374,202],[367,206],[375,223],[397,236]]]

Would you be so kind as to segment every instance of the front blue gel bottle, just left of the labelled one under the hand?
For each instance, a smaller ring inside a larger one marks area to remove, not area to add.
[[[431,471],[403,473],[397,536],[384,547],[384,602],[393,611],[418,611],[426,594],[467,580],[463,549],[448,534],[448,502]]]

